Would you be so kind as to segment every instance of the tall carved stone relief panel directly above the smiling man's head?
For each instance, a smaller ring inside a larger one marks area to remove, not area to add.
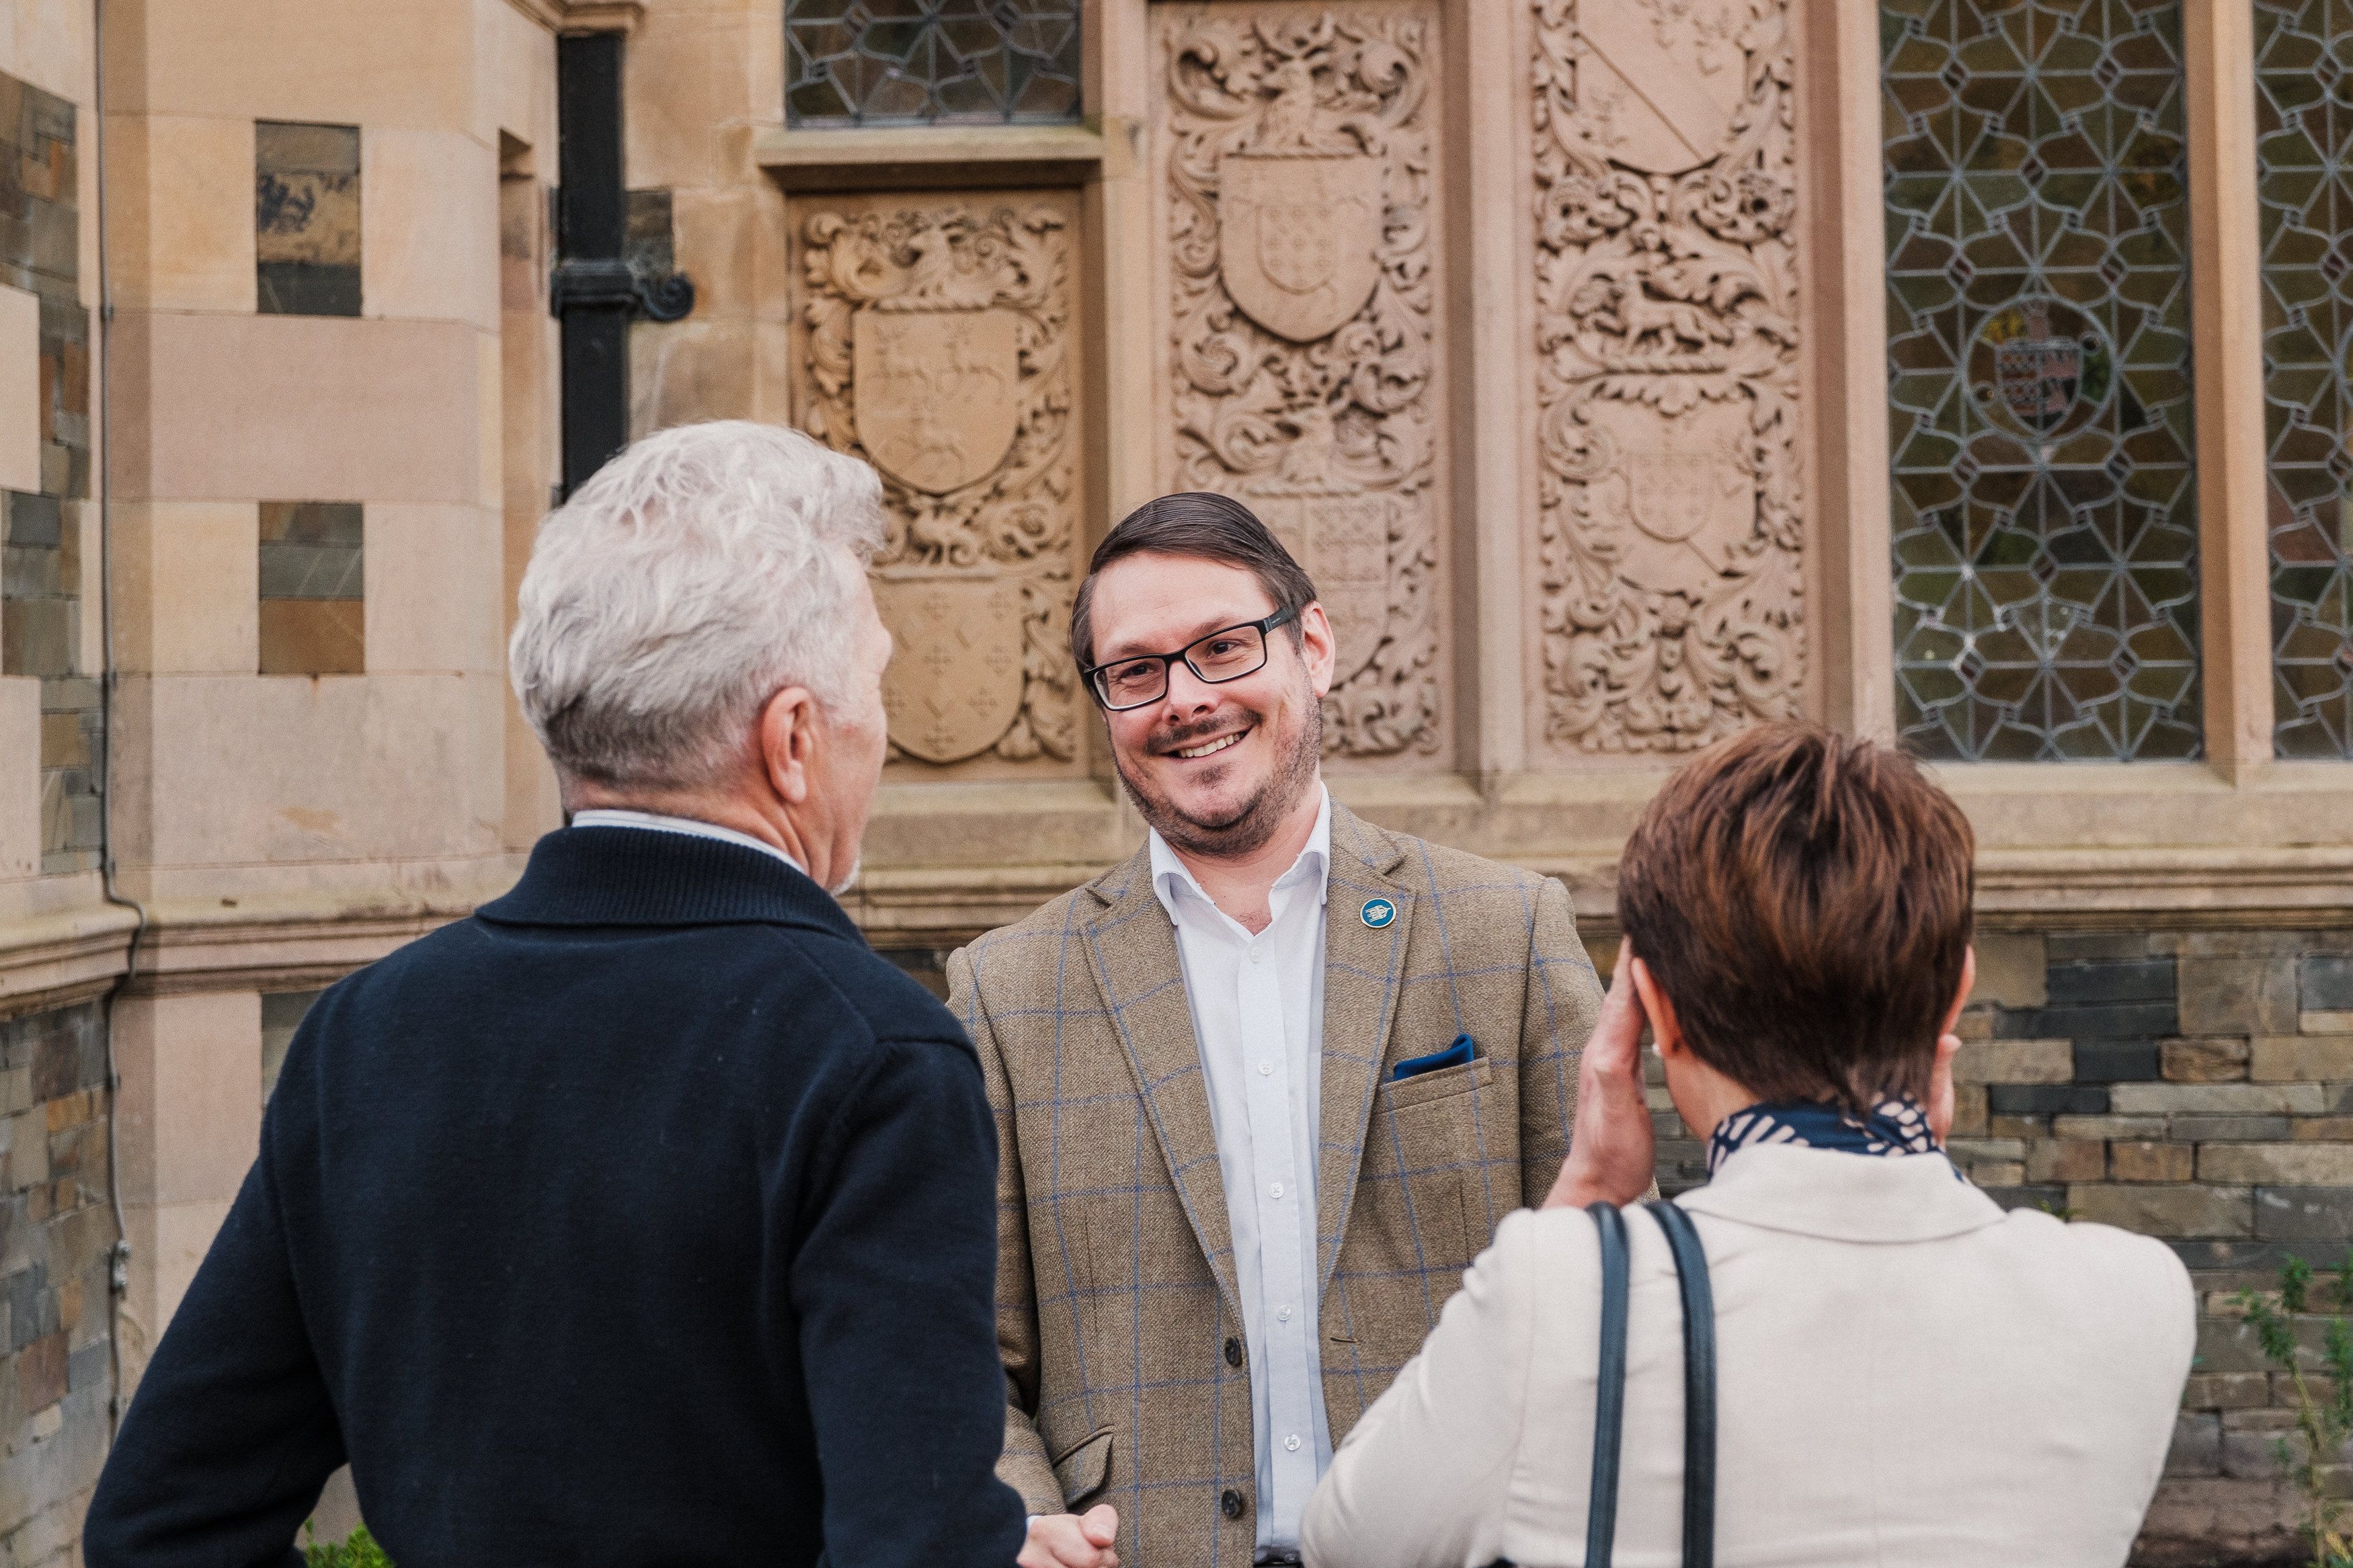
[[[1325,750],[1438,752],[1428,5],[1217,5],[1165,45],[1174,489],[1245,501],[1339,637]]]

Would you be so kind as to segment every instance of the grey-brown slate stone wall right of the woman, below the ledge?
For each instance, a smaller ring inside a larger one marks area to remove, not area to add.
[[[2231,1295],[2353,1248],[2353,931],[1995,940],[2042,947],[2045,994],[1962,1013],[1953,1157],[2005,1206],[2160,1237],[2198,1286],[2198,1368],[2134,1561],[2294,1559],[2292,1394]]]

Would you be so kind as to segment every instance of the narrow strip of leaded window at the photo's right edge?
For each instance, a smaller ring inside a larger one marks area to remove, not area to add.
[[[2353,757],[2353,0],[2257,0],[2273,745]]]

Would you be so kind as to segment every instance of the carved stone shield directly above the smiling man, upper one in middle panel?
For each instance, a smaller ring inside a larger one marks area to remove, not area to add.
[[[1329,336],[1381,282],[1381,165],[1252,158],[1217,165],[1226,294],[1292,343]]]

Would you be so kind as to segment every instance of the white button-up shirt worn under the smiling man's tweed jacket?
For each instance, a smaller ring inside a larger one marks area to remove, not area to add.
[[[1259,1554],[1294,1552],[1315,1481],[1332,1465],[1315,1340],[1315,1150],[1322,1079],[1325,889],[1332,795],[1308,846],[1275,879],[1252,936],[1219,910],[1153,832],[1153,893],[1176,924],[1193,1039],[1209,1086],[1217,1171],[1233,1225],[1233,1276],[1249,1345],[1259,1462]]]

